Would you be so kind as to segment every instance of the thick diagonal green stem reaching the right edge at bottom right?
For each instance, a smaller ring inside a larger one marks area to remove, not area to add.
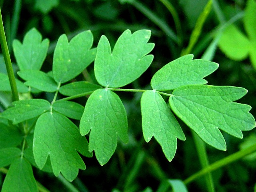
[[[235,162],[241,158],[243,158],[246,155],[249,155],[253,152],[256,152],[256,144],[240,150],[238,152],[235,152],[234,154],[231,154],[221,160],[218,160],[217,162],[210,164],[209,166],[207,166],[206,168],[203,168],[202,170],[196,172],[195,174],[193,174],[192,176],[190,176],[189,178],[184,180],[184,184],[189,184],[190,182],[192,182],[193,180],[199,178],[200,176],[207,174],[208,172],[212,172],[213,170],[216,170],[218,168],[221,168],[223,166],[226,166],[232,162]]]

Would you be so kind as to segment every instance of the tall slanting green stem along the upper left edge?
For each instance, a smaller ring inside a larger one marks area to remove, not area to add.
[[[11,58],[10,58],[10,54],[9,54],[9,50],[6,42],[6,37],[4,33],[4,24],[2,20],[1,8],[0,8],[0,44],[1,44],[2,52],[4,56],[4,62],[6,64],[7,74],[10,81],[12,97],[14,101],[18,101],[19,100],[18,89],[16,86],[16,81],[15,81],[14,72],[12,68],[12,62],[11,62]]]

